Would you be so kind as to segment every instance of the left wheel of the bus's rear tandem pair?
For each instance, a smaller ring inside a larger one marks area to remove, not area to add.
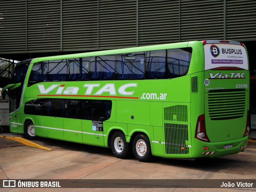
[[[124,159],[129,155],[129,145],[123,132],[117,131],[111,137],[111,150],[115,157]]]

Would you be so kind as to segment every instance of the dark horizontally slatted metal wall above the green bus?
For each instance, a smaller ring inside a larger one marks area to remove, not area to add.
[[[256,40],[255,0],[2,0],[0,54]]]

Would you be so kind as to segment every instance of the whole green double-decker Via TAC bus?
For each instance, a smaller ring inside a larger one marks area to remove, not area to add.
[[[25,60],[14,70],[10,130],[108,147],[148,162],[247,146],[249,69],[239,42],[191,41]]]

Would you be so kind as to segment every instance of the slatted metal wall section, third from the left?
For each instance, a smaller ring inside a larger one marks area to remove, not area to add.
[[[62,0],[63,50],[98,48],[98,0]]]

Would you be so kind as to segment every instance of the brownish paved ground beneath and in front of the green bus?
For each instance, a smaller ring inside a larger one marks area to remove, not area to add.
[[[9,142],[9,143],[8,143]],[[16,146],[0,148],[0,179],[256,179],[256,143],[244,152],[214,159],[143,163],[115,158],[110,149],[41,138],[52,151]],[[17,145],[0,138],[2,145]],[[1,145],[0,145],[1,146]],[[111,188],[1,189],[1,191],[113,191]],[[122,191],[252,191],[246,189],[125,188]]]

